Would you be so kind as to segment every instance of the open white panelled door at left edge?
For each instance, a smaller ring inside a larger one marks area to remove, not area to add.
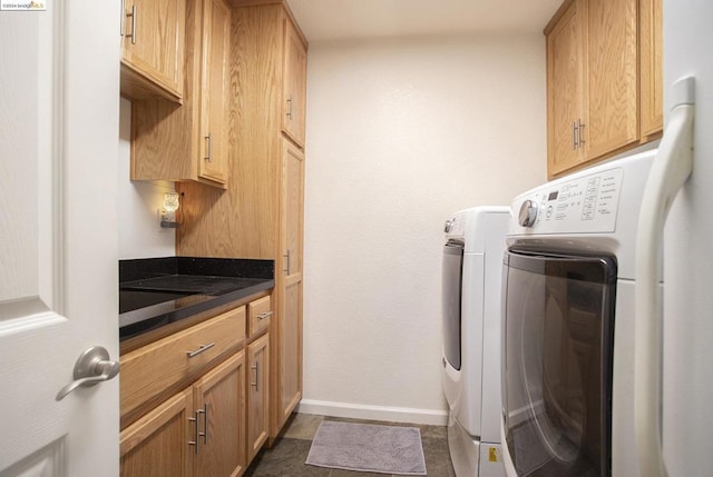
[[[0,11],[0,476],[110,477],[118,379],[56,396],[118,359],[119,2],[36,3]]]

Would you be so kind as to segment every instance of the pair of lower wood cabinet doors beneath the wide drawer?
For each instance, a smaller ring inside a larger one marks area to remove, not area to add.
[[[121,431],[121,477],[236,477],[245,459],[245,351]]]

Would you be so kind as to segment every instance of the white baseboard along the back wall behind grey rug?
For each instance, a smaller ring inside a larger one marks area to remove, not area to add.
[[[364,406],[351,403],[302,399],[295,411],[350,419],[383,420],[388,423],[427,424],[447,426],[448,411],[437,409],[413,409],[407,407]]]

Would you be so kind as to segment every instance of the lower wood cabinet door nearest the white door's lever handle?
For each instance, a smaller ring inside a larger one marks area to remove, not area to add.
[[[121,477],[189,477],[195,447],[191,389],[167,399],[120,434]]]

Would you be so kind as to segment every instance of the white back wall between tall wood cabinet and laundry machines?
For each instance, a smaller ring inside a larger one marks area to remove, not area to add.
[[[311,44],[301,411],[445,423],[443,221],[546,180],[545,39]]]

